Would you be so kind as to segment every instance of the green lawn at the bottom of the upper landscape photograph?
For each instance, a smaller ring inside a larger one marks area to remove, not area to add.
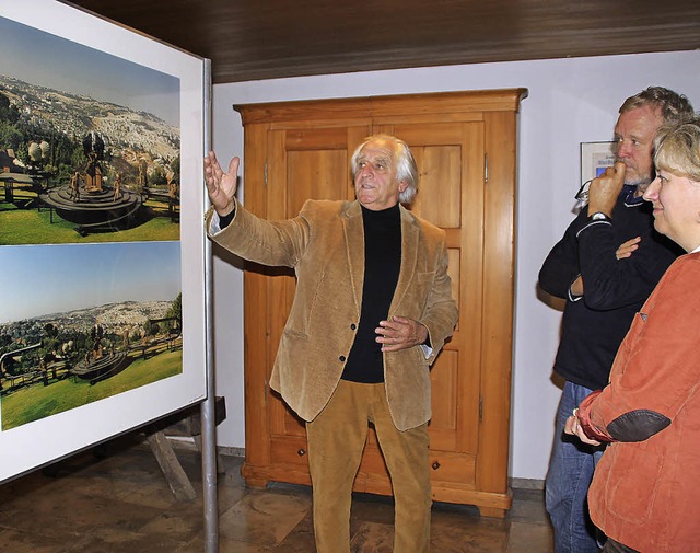
[[[16,209],[0,201],[0,245],[179,240],[179,224],[163,216],[162,206],[149,203],[145,206],[147,217],[135,228],[81,237],[75,231],[75,223],[61,219],[57,214],[54,214],[51,222],[48,209]]]

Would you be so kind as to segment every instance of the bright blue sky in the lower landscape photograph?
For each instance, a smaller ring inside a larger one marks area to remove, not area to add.
[[[179,242],[0,246],[0,324],[180,290]]]

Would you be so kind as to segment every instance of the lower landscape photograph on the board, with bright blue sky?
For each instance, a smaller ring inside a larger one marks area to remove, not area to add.
[[[183,372],[179,242],[0,247],[2,431]]]

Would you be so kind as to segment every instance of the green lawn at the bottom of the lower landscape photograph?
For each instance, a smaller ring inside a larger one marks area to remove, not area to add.
[[[2,398],[2,429],[8,430],[86,403],[132,390],[182,372],[183,350],[164,352],[147,360],[137,359],[125,370],[94,385],[68,377],[34,384]]]

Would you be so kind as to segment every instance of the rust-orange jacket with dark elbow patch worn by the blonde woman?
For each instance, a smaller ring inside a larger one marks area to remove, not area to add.
[[[591,517],[642,553],[700,552],[700,253],[679,257],[635,315],[610,383],[580,406],[612,441],[588,492]]]

